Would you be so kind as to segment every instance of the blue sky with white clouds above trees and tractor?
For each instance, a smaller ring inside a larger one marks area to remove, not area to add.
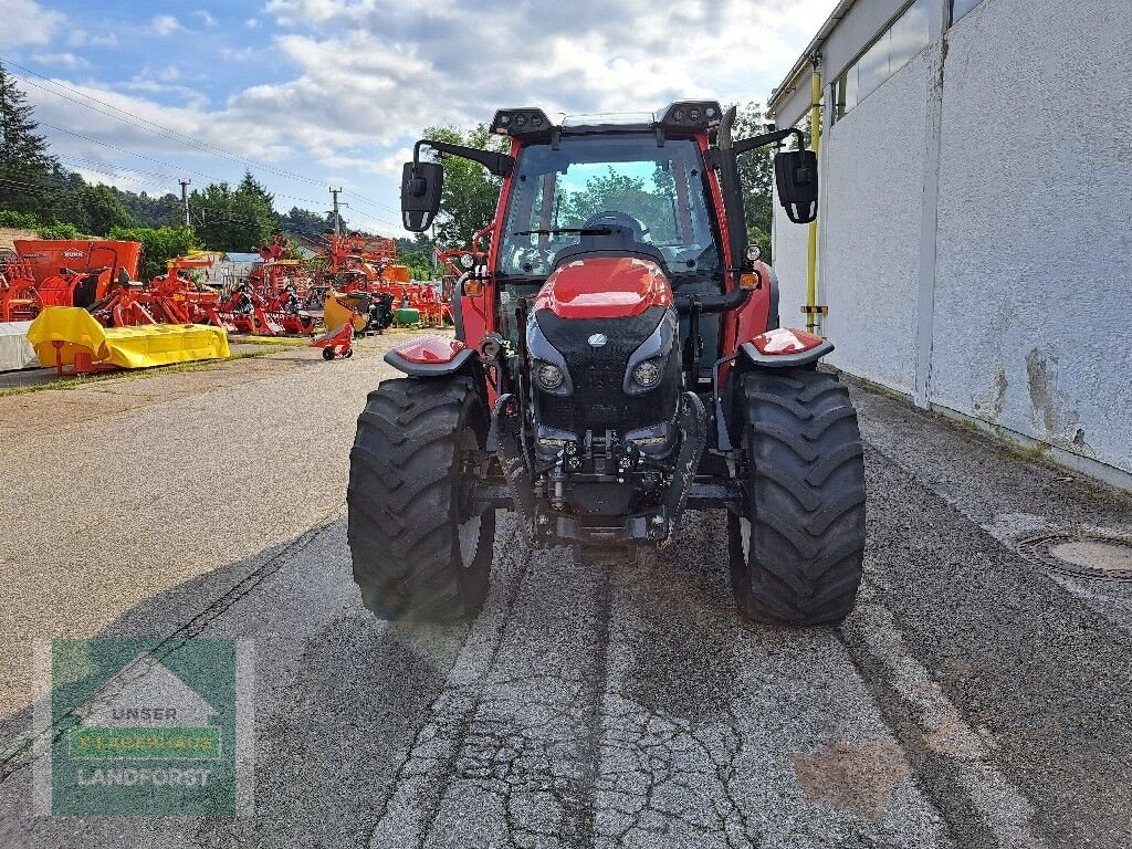
[[[496,109],[765,102],[835,0],[0,0],[0,61],[62,164],[179,192],[250,170],[281,212],[404,235],[401,163]]]

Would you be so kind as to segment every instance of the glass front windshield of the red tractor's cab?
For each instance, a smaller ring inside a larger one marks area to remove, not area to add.
[[[691,139],[660,146],[652,134],[566,136],[557,151],[524,147],[498,271],[546,276],[555,255],[577,243],[577,231],[610,223],[659,248],[674,276],[715,271],[721,263],[704,188],[703,158]]]

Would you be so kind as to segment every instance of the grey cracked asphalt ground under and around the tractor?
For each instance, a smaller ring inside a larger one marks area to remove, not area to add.
[[[1132,584],[1017,552],[1132,503],[855,389],[842,628],[741,621],[709,513],[606,569],[501,515],[474,623],[389,625],[344,490],[401,338],[0,397],[0,847],[1132,844]],[[251,641],[252,816],[33,814],[32,646],[95,635]]]

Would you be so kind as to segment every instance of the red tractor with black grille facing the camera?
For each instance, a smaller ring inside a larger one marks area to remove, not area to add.
[[[391,351],[405,377],[369,395],[351,452],[349,543],[380,617],[474,615],[496,509],[532,544],[632,561],[687,509],[727,513],[720,560],[739,610],[841,621],[865,549],[857,414],[816,368],[833,346],[779,327],[773,271],[748,248],[739,156],[778,145],[790,218],[817,212],[797,130],[732,139],[735,110],[678,102],[635,123],[496,113],[508,153],[421,140],[402,182],[405,229],[439,212],[444,166],[503,178],[490,249],[454,295],[455,338]]]

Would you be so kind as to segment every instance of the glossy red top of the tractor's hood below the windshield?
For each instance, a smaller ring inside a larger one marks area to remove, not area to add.
[[[637,257],[585,257],[560,265],[547,278],[534,311],[558,318],[631,318],[670,307],[672,288],[657,263]]]

